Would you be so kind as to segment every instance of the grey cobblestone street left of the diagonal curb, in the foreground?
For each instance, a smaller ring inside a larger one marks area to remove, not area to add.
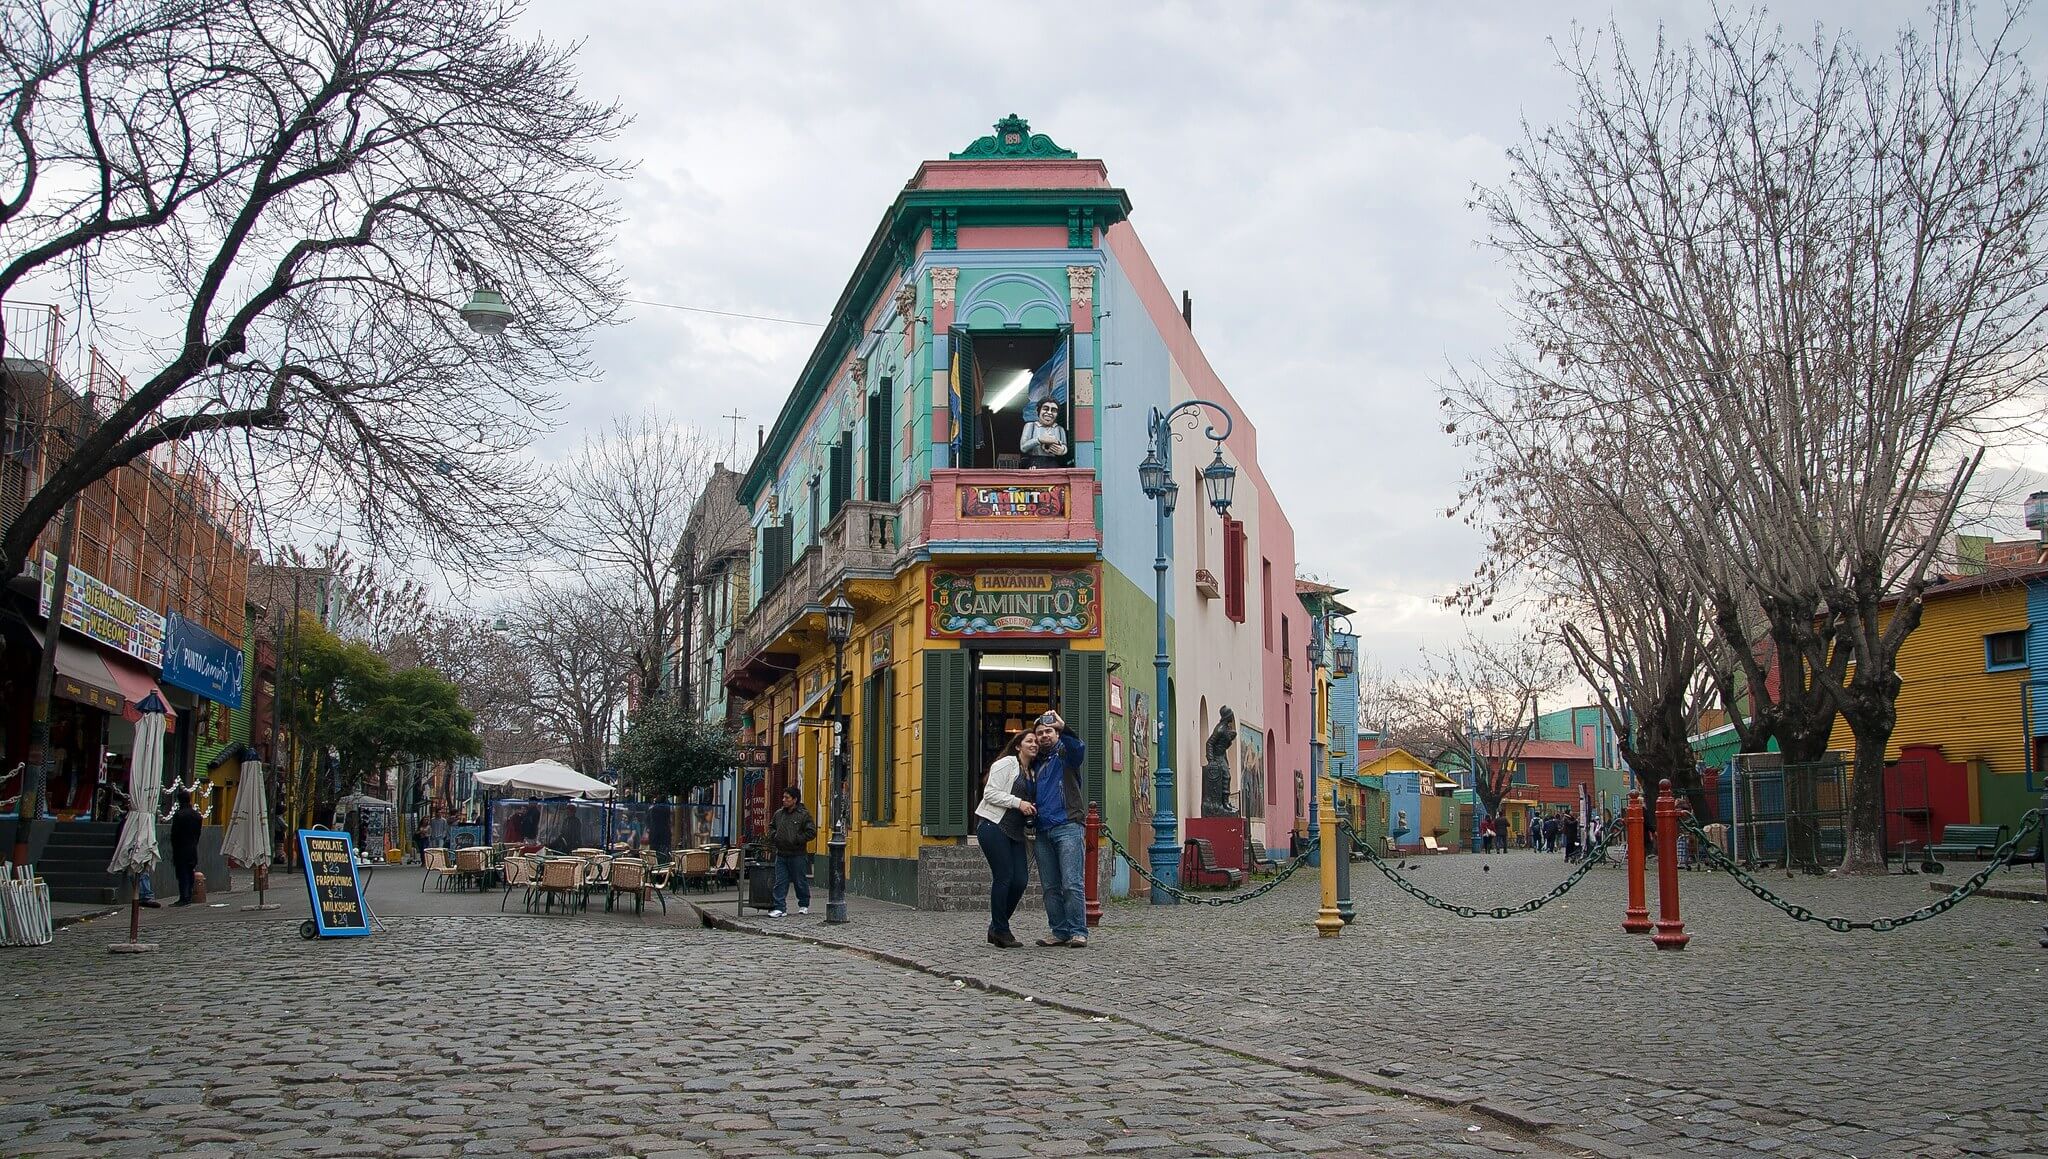
[[[274,897],[0,952],[0,1155],[1571,1153],[840,950],[395,889],[301,942]]]

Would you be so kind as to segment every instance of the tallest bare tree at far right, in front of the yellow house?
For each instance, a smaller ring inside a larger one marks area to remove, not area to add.
[[[1894,661],[1929,565],[2048,373],[2048,115],[2021,16],[1942,4],[1876,55],[1761,16],[1640,63],[1581,41],[1575,115],[1479,195],[1518,287],[1493,385],[1665,465],[1645,516],[1712,608],[1731,713],[1769,698],[1788,760],[1837,713],[1855,735],[1851,870],[1882,864]]]

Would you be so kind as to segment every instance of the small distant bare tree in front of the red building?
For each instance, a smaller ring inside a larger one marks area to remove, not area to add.
[[[1536,704],[1556,692],[1565,666],[1540,637],[1489,643],[1466,635],[1456,647],[1423,653],[1421,668],[1389,694],[1405,743],[1427,756],[1460,754],[1487,813],[1501,811],[1522,760]]]

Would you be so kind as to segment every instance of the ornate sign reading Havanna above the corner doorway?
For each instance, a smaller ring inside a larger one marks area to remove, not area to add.
[[[934,567],[926,627],[934,639],[1100,637],[1100,592],[1096,567]]]

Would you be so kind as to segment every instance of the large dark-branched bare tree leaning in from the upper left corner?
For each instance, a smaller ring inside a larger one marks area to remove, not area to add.
[[[500,0],[90,0],[0,14],[0,297],[152,303],[135,389],[0,528],[201,440],[279,510],[473,569],[535,530],[516,455],[610,317],[614,106]],[[479,336],[475,287],[516,321]]]

